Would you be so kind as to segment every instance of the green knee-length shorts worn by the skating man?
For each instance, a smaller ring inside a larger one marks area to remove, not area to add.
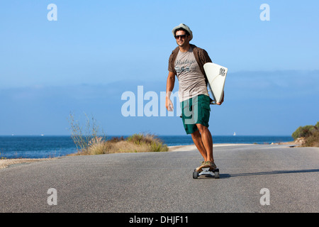
[[[181,101],[181,119],[187,134],[198,130],[196,123],[208,128],[211,107],[211,99],[205,94],[194,96],[191,99]]]

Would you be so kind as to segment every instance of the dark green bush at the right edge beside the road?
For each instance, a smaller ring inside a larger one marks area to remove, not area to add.
[[[291,136],[295,141],[303,140],[303,147],[319,147],[319,121],[315,126],[300,126]]]

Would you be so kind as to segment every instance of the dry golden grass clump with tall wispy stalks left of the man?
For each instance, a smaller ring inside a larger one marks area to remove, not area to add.
[[[108,139],[101,135],[96,120],[86,116],[85,127],[79,121],[69,118],[72,140],[77,146],[77,153],[72,155],[101,155],[110,153],[140,153],[167,151],[168,147],[156,135],[137,133],[127,138]]]

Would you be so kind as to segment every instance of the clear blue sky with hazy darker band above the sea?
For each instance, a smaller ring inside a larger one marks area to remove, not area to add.
[[[51,3],[57,21],[47,20]],[[291,135],[319,121],[318,9],[315,0],[4,1],[0,135],[68,135],[70,112],[94,116],[108,135],[184,135],[178,116],[121,114],[123,92],[165,91],[179,23],[228,67],[213,135]]]

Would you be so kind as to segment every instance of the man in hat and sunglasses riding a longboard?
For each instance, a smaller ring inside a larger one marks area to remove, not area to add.
[[[179,101],[181,104],[182,121],[187,134],[203,156],[201,166],[217,168],[213,158],[213,139],[208,130],[211,99],[208,95],[208,80],[203,70],[206,62],[211,62],[206,50],[197,48],[189,41],[193,33],[188,26],[181,23],[172,31],[178,47],[169,57],[169,74],[166,87],[166,108],[173,110],[170,95],[174,89],[175,75],[179,79]],[[222,104],[223,100],[218,103]]]

